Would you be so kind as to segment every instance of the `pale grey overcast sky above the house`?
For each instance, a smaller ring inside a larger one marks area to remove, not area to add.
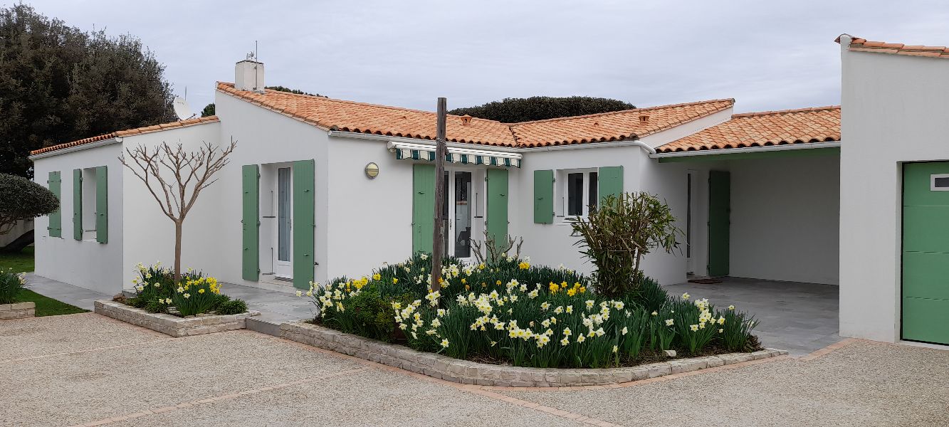
[[[9,6],[9,1],[0,0]],[[949,44],[949,2],[32,1],[131,33],[195,111],[259,43],[266,84],[433,110],[586,95],[637,106],[735,98],[737,112],[840,103],[840,33]]]

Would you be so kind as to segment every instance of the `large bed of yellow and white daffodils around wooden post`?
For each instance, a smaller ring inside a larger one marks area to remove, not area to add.
[[[538,368],[635,366],[665,360],[664,350],[697,357],[760,349],[747,313],[669,297],[648,278],[606,298],[569,269],[446,259],[444,280],[430,292],[430,266],[419,253],[370,277],[313,284],[314,323],[454,359]]]

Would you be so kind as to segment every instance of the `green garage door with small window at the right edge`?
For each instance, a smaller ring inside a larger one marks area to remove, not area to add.
[[[949,344],[949,162],[902,168],[902,338]]]

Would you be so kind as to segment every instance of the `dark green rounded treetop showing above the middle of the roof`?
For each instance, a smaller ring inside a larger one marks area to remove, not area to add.
[[[629,102],[591,97],[530,97],[505,98],[466,108],[456,108],[449,114],[465,114],[492,121],[516,123],[519,121],[542,121],[559,117],[583,116],[636,108]]]

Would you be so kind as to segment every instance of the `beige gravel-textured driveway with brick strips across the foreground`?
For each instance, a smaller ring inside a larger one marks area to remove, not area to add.
[[[934,426],[949,410],[949,352],[859,341],[567,391],[449,383],[247,330],[169,338],[95,313],[3,321],[0,340],[0,426]]]

